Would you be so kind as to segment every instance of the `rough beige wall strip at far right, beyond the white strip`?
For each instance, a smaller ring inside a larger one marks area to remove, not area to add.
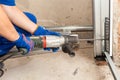
[[[120,0],[113,0],[113,55],[120,66]]]

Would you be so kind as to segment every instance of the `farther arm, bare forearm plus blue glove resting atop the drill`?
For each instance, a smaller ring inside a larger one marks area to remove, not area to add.
[[[4,11],[7,13],[9,19],[20,28],[30,32],[33,35],[60,35],[56,32],[46,30],[44,27],[37,26],[16,6],[2,5]]]

